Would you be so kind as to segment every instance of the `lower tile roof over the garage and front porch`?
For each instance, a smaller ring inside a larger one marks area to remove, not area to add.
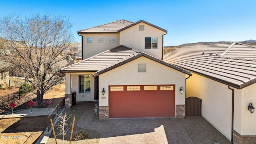
[[[160,64],[164,64],[165,66],[183,72],[184,74],[191,74],[190,72],[178,68],[177,66],[164,62],[144,52],[138,52],[137,50],[133,50],[123,45],[117,46],[70,66],[66,66],[61,69],[61,72],[95,72],[93,76],[98,76],[104,72],[112,70],[113,68],[121,66],[122,64],[126,64],[141,56],[159,62]]]

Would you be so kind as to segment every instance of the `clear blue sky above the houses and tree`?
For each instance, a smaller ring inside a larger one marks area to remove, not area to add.
[[[0,17],[63,15],[77,31],[116,20],[145,20],[164,28],[164,46],[256,40],[256,0],[0,0]]]

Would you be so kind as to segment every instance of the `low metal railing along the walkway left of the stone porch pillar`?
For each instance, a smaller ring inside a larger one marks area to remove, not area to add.
[[[61,99],[61,101],[57,104],[57,106],[54,108],[54,110],[52,110],[52,113],[49,114],[49,116],[47,117],[47,131],[48,132],[49,132],[50,128],[52,127],[52,125],[50,124],[50,119],[53,119],[52,123],[54,123],[55,120],[57,119],[57,114],[60,114],[60,112],[63,110],[64,106],[65,106],[65,97]]]

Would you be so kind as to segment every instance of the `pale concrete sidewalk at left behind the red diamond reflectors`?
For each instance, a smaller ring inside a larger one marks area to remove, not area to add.
[[[42,116],[42,115],[49,115],[52,111],[54,110],[54,108],[50,108],[50,112],[48,112],[48,108],[32,108],[32,113],[31,109],[27,109],[27,110],[17,110],[13,112],[8,112],[6,114],[2,114],[0,115],[0,119],[2,118],[22,118],[24,116],[28,117],[28,116]],[[57,113],[57,111],[53,112],[54,114]]]

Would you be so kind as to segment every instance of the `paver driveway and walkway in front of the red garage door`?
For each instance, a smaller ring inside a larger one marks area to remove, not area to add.
[[[186,130],[176,118],[118,118],[93,122],[94,103],[84,102],[83,104],[85,112],[77,125],[80,128],[100,132],[100,142],[108,140],[112,144],[129,144],[129,142],[137,139],[136,142],[142,143],[144,140],[143,144],[145,144],[145,140],[148,143],[153,143],[157,136],[159,140],[154,143],[165,144],[164,139],[167,138],[169,144],[193,144]],[[161,127],[164,128],[165,134],[157,132]],[[138,137],[144,139],[138,141],[140,140]]]

